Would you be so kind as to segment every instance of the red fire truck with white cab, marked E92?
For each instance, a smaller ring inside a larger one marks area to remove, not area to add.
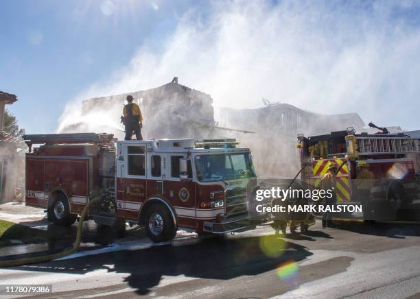
[[[24,136],[26,204],[47,209],[55,224],[75,222],[100,196],[90,217],[98,224],[135,222],[152,241],[178,228],[199,234],[255,227],[257,184],[250,150],[235,139],[116,141],[111,134]],[[41,144],[39,147],[32,145]]]

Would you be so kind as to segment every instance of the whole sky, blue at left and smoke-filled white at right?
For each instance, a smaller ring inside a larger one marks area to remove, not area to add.
[[[264,97],[420,129],[419,1],[0,0],[0,18],[0,90],[27,133],[174,76],[215,107]]]

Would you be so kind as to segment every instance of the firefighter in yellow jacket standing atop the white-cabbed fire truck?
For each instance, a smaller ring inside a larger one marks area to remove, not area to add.
[[[123,117],[121,117],[126,130],[124,140],[131,140],[132,132],[135,133],[137,140],[143,140],[140,132],[143,128],[143,117],[139,105],[133,103],[133,99],[132,95],[127,95],[128,104],[124,106]]]

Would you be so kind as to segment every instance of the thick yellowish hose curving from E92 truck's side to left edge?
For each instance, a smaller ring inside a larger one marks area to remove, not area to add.
[[[100,201],[100,197],[97,196],[96,198],[93,198],[93,200],[91,200],[84,207],[82,214],[80,215],[80,219],[78,223],[78,232],[76,233],[76,238],[73,243],[73,248],[71,248],[71,250],[67,250],[65,252],[58,252],[54,254],[47,254],[43,256],[33,256],[33,257],[25,258],[25,259],[13,259],[9,261],[0,261],[0,267],[14,267],[14,266],[19,266],[19,265],[33,264],[33,263],[43,263],[47,261],[52,261],[54,259],[60,259],[64,256],[77,252],[80,246],[80,241],[82,239],[82,227],[83,227],[84,217],[86,217],[86,214],[88,213],[91,205],[99,201]]]

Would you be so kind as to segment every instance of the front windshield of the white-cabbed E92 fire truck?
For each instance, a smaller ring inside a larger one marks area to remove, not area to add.
[[[255,177],[253,160],[249,153],[196,156],[196,169],[200,182]]]

